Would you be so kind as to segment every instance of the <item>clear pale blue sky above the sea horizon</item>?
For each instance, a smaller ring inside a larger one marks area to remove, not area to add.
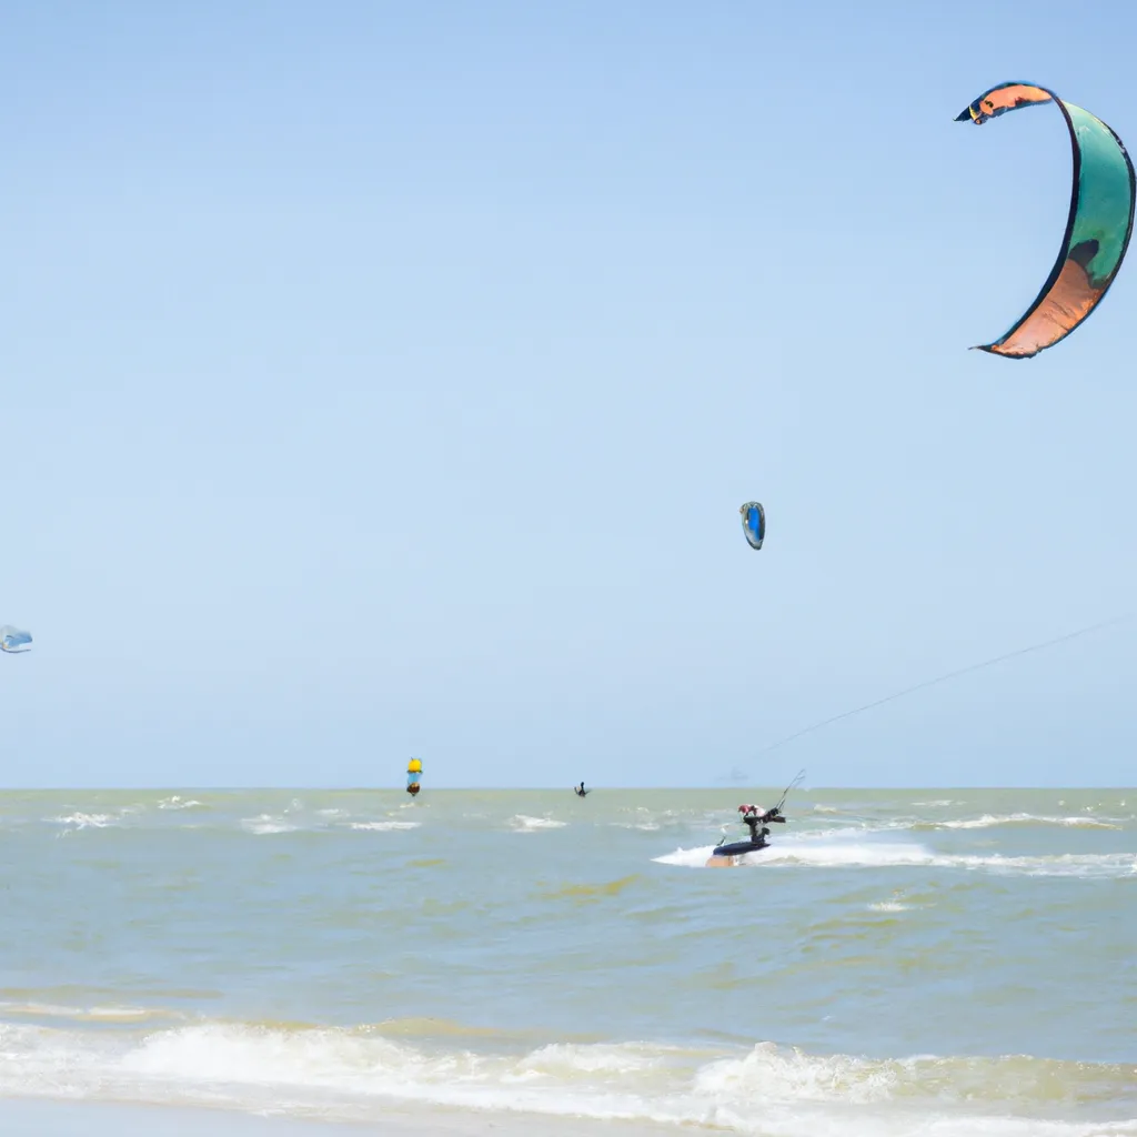
[[[1079,15],[1088,11],[1092,15]],[[1132,5],[9,5],[8,785],[1124,785]],[[767,511],[761,553],[738,507]]]

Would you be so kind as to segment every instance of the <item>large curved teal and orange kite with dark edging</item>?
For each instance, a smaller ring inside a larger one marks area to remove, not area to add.
[[[1019,322],[982,351],[1029,359],[1069,335],[1113,283],[1134,227],[1134,167],[1121,139],[1088,110],[1063,102],[1032,83],[1001,83],[956,116],[981,126],[1020,107],[1054,102],[1073,147],[1073,192],[1062,250],[1035,302]]]

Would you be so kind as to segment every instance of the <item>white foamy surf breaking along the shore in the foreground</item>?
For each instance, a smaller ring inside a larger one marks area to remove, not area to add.
[[[735,1053],[554,1044],[516,1056],[431,1052],[367,1029],[229,1023],[127,1037],[0,1023],[0,1095],[272,1107],[326,1120],[380,1122],[402,1102],[754,1137],[1137,1135],[1137,1119],[1039,1117],[1076,1097],[1087,1074],[1080,1063],[1031,1059],[878,1061],[771,1043]],[[1088,1077],[1118,1097],[1128,1093],[1127,1068]]]

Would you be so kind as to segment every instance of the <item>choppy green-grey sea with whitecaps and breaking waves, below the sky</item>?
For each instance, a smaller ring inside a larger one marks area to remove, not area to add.
[[[0,794],[0,1097],[1137,1137],[1137,790],[423,786]]]

